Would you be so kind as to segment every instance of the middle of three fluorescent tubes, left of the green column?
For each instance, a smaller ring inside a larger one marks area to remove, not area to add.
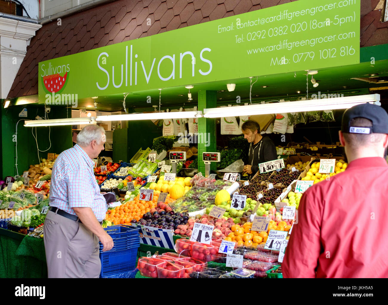
[[[131,113],[97,116],[96,121],[133,121],[180,118],[202,118],[202,111],[177,111],[157,113]]]

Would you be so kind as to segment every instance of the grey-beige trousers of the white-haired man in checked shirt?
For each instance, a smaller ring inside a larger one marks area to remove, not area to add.
[[[49,278],[99,277],[99,238],[80,222],[47,211],[43,227]]]

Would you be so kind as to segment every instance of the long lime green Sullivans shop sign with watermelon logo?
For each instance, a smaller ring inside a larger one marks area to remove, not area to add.
[[[299,0],[40,62],[39,100],[359,62],[360,0]]]

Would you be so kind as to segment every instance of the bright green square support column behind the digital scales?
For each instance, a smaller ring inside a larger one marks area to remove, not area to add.
[[[206,90],[206,91],[198,92],[199,111],[203,111],[204,108],[215,108],[215,107],[217,107],[216,91]],[[210,152],[216,151],[216,148],[217,148],[216,130],[217,129],[216,129],[215,118],[198,119],[198,170],[203,175],[205,175],[205,165],[202,160],[202,153],[206,151],[210,151]],[[204,138],[205,135],[206,135],[206,138]],[[209,146],[205,146],[205,145],[209,145]],[[217,169],[217,165],[215,164],[215,162],[212,162],[210,165],[210,170],[215,170],[215,169]]]

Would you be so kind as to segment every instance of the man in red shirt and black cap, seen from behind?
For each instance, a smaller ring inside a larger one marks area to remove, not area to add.
[[[283,277],[388,277],[388,114],[354,106],[339,135],[349,165],[303,194]]]

